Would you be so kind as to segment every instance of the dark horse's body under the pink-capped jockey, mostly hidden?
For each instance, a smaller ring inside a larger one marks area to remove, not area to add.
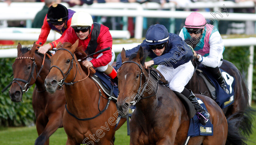
[[[234,102],[228,107],[222,109],[225,116],[229,117],[230,115],[238,111],[244,111],[246,109],[248,105],[248,92],[243,77],[234,64],[227,60],[223,60],[220,68],[236,79],[234,87]],[[192,78],[185,87],[191,89],[194,93],[203,94],[212,98],[203,78],[197,75],[196,72],[193,74]],[[243,113],[241,113],[240,115],[243,115]]]

